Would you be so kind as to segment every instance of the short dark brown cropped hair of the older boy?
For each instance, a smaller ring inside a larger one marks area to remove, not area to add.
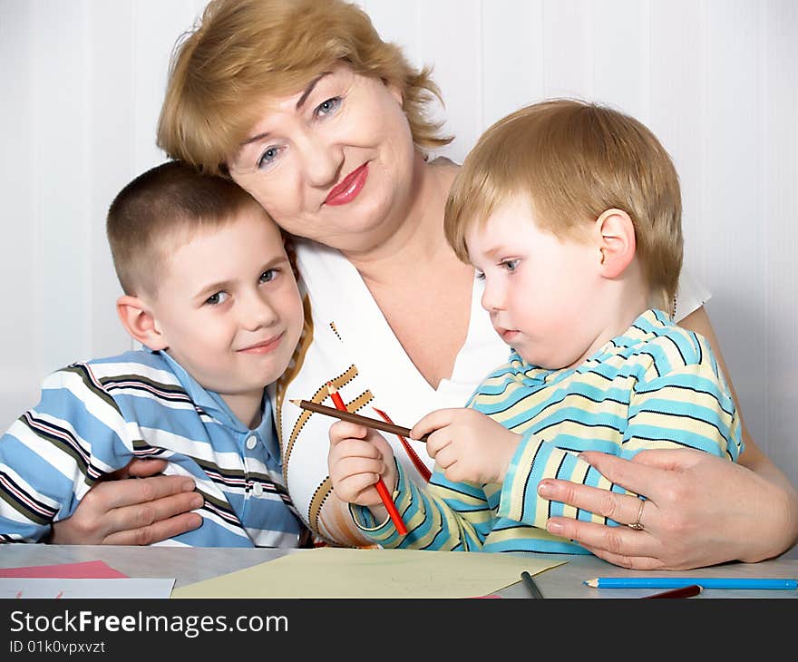
[[[125,294],[156,296],[169,252],[197,229],[221,227],[248,206],[266,211],[231,180],[168,161],[139,175],[111,203],[106,233]]]

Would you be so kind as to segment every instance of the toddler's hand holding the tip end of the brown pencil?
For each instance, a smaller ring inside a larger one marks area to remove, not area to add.
[[[439,409],[410,431],[412,439],[429,434],[430,454],[447,481],[503,482],[521,435],[473,409]]]

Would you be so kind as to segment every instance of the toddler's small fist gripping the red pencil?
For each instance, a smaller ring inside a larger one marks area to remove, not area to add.
[[[388,492],[394,492],[396,466],[394,451],[380,433],[348,421],[333,423],[327,466],[338,499],[367,506],[378,519],[387,516],[375,484],[382,477]]]

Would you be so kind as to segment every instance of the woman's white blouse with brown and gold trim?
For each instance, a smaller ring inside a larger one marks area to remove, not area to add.
[[[332,381],[349,411],[379,418],[375,408],[404,427],[444,407],[461,407],[509,348],[497,336],[481,306],[481,280],[474,278],[468,335],[453,374],[433,388],[399,344],[382,311],[351,263],[337,250],[296,240],[300,287],[306,297],[306,334],[286,375],[270,389],[283,453],[288,493],[316,535],[342,545],[367,544],[339,502],[330,501],[327,431],[335,419],[310,414],[288,400],[314,400],[333,406],[326,391]],[[679,281],[676,319],[710,297],[684,271]],[[414,480],[423,481],[399,438],[384,434],[399,462]],[[431,470],[424,444],[406,440]],[[331,505],[333,504],[333,505]]]

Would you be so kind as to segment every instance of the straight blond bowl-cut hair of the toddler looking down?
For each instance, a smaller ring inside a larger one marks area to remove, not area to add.
[[[494,123],[463,161],[446,203],[446,239],[468,261],[465,236],[522,196],[541,229],[579,239],[607,209],[626,211],[653,295],[676,294],[682,203],[673,161],[641,122],[596,103],[533,103]]]

